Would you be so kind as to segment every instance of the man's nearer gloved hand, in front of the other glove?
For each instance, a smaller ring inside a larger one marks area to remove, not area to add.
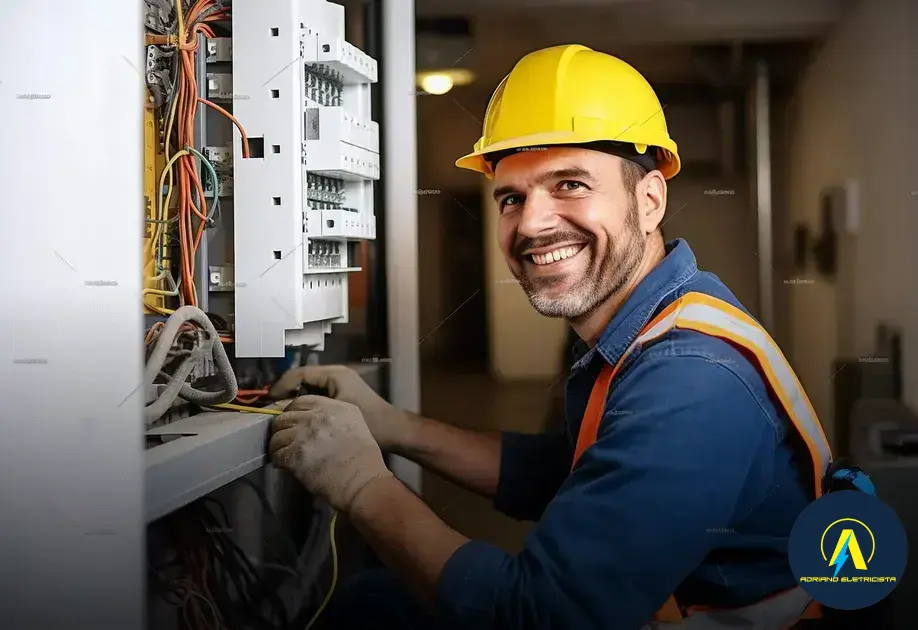
[[[323,396],[301,396],[271,428],[268,454],[311,493],[347,512],[357,494],[392,476],[356,406]]]

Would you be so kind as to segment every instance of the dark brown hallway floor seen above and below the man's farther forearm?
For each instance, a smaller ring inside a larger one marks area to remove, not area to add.
[[[540,431],[550,413],[551,395],[559,381],[499,383],[480,371],[424,365],[421,370],[422,411],[428,418],[486,431]],[[531,528],[498,513],[490,501],[460,489],[432,473],[424,473],[427,504],[452,528],[469,538],[518,550]]]

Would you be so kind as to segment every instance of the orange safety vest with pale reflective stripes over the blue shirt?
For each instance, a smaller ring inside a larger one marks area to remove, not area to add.
[[[625,351],[614,367],[609,364],[603,366],[599,378],[596,379],[596,383],[593,385],[593,391],[590,394],[590,400],[583,415],[583,422],[580,425],[577,447],[574,452],[574,466],[577,465],[583,452],[596,442],[599,424],[605,411],[609,387],[624,364],[625,359],[635,348],[653,343],[674,328],[695,330],[706,335],[725,339],[746,350],[756,359],[756,367],[765,377],[772,393],[781,402],[781,406],[791,419],[797,434],[806,444],[807,454],[813,464],[813,490],[815,497],[822,496],[822,478],[832,461],[832,453],[822,430],[822,425],[819,423],[816,412],[803,391],[800,381],[797,380],[796,374],[794,374],[793,369],[791,369],[771,336],[754,319],[735,306],[703,293],[687,293],[675,300],[644,327],[637,339]],[[802,619],[821,616],[818,605],[811,601],[807,602],[808,598],[805,594],[802,594],[799,587],[791,589],[791,591],[796,591],[793,605],[799,606],[801,595],[804,603],[807,604],[799,610],[799,615],[793,613],[792,616],[796,618],[793,623]],[[785,597],[785,594],[790,593],[785,591],[785,593],[740,610],[748,610],[750,616],[758,620],[766,617],[774,618],[774,611],[768,610],[770,602],[775,602],[777,606],[788,605],[779,603],[790,601],[790,598]],[[679,606],[674,597],[670,596],[663,607],[654,615],[653,627],[677,628],[690,617],[698,614],[703,616],[712,610],[701,606],[683,608]],[[739,611],[733,611],[734,615],[736,612]],[[793,623],[784,627],[792,627]],[[660,624],[663,624],[663,626],[660,626]],[[691,624],[691,627],[695,627],[695,625]],[[757,625],[756,627],[766,626]]]

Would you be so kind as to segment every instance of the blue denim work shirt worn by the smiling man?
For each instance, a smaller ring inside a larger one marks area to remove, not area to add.
[[[654,315],[689,291],[742,308],[688,243],[666,249],[574,365],[566,430],[504,434],[495,506],[538,523],[517,555],[471,541],[450,558],[438,609],[457,627],[637,630],[673,594],[735,607],[796,585],[787,538],[809,473],[787,415],[728,342],[678,329],[636,350],[571,472],[596,376]]]

